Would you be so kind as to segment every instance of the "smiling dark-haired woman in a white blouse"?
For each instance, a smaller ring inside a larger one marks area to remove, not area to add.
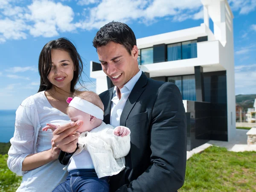
[[[17,191],[51,192],[67,172],[58,161],[52,131],[46,123],[66,124],[67,97],[72,97],[83,63],[76,47],[66,38],[47,43],[39,56],[41,78],[38,93],[25,99],[16,111],[15,133],[10,140],[7,164],[23,175]]]

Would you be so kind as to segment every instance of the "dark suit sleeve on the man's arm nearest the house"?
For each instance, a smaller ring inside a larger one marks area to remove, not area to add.
[[[180,90],[163,84],[151,120],[151,165],[118,192],[175,192],[183,186],[186,171],[186,115]]]

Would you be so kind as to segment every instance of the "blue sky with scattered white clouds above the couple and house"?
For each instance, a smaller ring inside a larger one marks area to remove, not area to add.
[[[233,11],[236,95],[256,94],[256,0],[228,0]],[[200,0],[0,0],[0,109],[17,109],[38,91],[38,56],[48,41],[69,38],[83,58],[98,61],[92,40],[112,20],[136,38],[200,26]],[[86,87],[93,89],[90,78]],[[91,79],[94,81],[94,79]]]

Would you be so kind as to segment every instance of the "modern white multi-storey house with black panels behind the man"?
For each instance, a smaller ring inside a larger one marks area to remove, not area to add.
[[[151,79],[173,82],[180,89],[188,149],[207,140],[227,141],[236,133],[233,13],[227,0],[201,2],[200,26],[137,39],[140,69]],[[96,79],[96,93],[113,86],[93,61],[90,77]]]

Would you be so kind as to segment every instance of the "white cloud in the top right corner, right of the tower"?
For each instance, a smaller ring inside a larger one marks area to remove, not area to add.
[[[256,8],[256,0],[229,0],[233,11],[239,11],[241,15],[247,15]]]

